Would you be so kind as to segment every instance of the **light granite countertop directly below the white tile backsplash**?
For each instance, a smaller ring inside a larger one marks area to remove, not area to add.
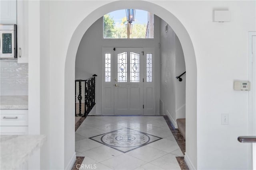
[[[0,96],[0,109],[28,109],[28,96]]]

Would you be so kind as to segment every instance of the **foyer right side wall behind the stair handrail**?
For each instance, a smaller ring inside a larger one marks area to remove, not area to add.
[[[186,110],[186,75],[182,82],[176,76],[183,73],[185,68],[184,55],[180,41],[170,25],[160,20],[160,100],[163,101],[164,115],[168,115],[177,128],[176,119],[185,118]]]

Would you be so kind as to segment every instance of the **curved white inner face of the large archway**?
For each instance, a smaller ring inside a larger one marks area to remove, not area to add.
[[[69,146],[74,146],[74,80],[75,80],[75,60],[76,53],[80,41],[86,32],[86,30],[92,25],[98,18],[102,17],[114,10],[134,8],[140,10],[146,10],[153,14],[156,14],[164,21],[166,21],[174,30],[178,36],[180,43],[182,45],[184,59],[186,63],[186,156],[189,155],[189,160],[191,163],[197,167],[197,67],[196,67],[196,57],[194,53],[194,48],[192,41],[186,28],[182,23],[168,10],[146,1],[135,1],[131,3],[130,1],[116,1],[108,3],[104,6],[100,6],[89,14],[84,20],[76,27],[70,43],[68,45],[68,51],[66,55],[65,62],[65,100],[64,100],[64,161],[65,165],[70,160],[70,157],[74,153],[74,148]],[[188,86],[189,84],[189,86]],[[71,140],[73,139],[73,140]]]

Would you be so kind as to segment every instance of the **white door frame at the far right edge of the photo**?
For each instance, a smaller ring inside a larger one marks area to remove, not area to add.
[[[252,38],[256,36],[256,32],[248,32],[248,61],[249,61],[249,74],[248,80],[251,82],[251,90],[249,91],[249,135],[256,135],[256,110],[254,108],[253,102],[256,101],[256,89],[253,86],[256,84],[256,78],[253,78],[253,65],[256,67],[255,62],[253,61],[252,55]],[[256,169],[256,162],[253,160],[256,158],[256,144],[249,145],[249,168]]]

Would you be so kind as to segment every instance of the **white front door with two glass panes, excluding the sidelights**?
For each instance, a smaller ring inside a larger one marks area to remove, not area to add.
[[[143,114],[143,49],[114,51],[114,114]]]

